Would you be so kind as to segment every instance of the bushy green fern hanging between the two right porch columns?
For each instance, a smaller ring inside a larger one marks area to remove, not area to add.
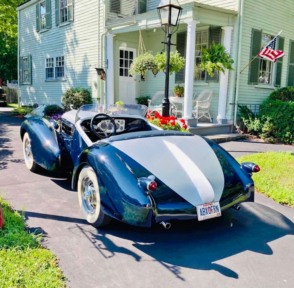
[[[216,73],[221,71],[225,74],[225,69],[233,70],[234,60],[226,51],[225,46],[215,44],[214,41],[208,49],[202,47],[201,60],[202,69],[207,71],[211,77],[214,76],[215,71]]]

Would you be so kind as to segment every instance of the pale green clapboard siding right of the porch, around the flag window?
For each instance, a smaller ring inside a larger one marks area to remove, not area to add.
[[[289,42],[294,39],[294,2],[292,0],[274,0],[271,5],[263,5],[262,0],[247,0],[244,3],[244,18],[242,32],[242,50],[240,67],[243,69],[250,61],[250,45],[252,28],[263,29],[263,32],[276,35],[283,30],[285,37],[281,86],[286,85],[288,72]],[[292,11],[289,13],[289,11]],[[260,85],[248,85],[248,71],[246,68],[240,74],[238,103],[260,103],[273,89],[260,88]],[[258,87],[259,86],[259,87]]]

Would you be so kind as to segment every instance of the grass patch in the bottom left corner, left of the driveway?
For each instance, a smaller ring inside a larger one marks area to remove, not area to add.
[[[0,287],[66,287],[57,259],[29,233],[24,217],[0,196],[5,228],[0,229]]]

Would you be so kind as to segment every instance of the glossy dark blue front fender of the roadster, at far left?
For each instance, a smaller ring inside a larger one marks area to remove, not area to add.
[[[34,161],[49,171],[60,171],[61,142],[53,125],[45,118],[32,116],[24,120],[20,133],[29,134]]]

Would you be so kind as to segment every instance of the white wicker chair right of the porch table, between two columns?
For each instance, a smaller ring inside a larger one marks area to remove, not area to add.
[[[199,94],[199,96],[193,101],[192,114],[196,119],[207,118],[212,123],[209,114],[212,94],[213,90],[203,90]]]

